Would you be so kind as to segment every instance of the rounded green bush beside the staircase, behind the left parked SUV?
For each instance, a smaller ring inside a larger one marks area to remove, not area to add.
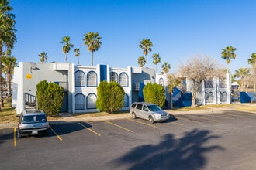
[[[49,116],[59,114],[64,99],[63,87],[43,80],[36,85],[36,90],[38,108]]]

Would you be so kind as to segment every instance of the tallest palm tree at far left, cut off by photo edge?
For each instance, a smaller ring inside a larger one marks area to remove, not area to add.
[[[2,0],[0,2],[0,75],[2,75],[2,48],[13,49],[16,42],[15,15],[11,12],[12,7],[9,6],[9,0]],[[0,80],[0,110],[1,107],[4,107],[2,80]]]

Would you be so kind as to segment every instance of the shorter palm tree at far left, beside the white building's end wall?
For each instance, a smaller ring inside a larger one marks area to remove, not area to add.
[[[7,93],[9,95],[12,90],[12,74],[15,66],[17,66],[17,59],[16,57],[11,56],[11,50],[8,50],[7,53],[2,56],[2,72],[6,75],[8,85]]]

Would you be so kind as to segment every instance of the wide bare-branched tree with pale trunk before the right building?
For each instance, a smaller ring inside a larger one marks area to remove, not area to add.
[[[187,63],[179,66],[179,73],[183,77],[192,80],[192,106],[196,107],[196,92],[202,81],[212,77],[222,77],[225,73],[209,56],[194,56]]]

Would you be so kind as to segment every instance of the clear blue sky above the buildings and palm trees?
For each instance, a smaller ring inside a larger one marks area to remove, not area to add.
[[[209,56],[226,66],[221,49],[237,48],[230,62],[234,73],[249,67],[247,59],[256,52],[255,0],[10,0],[16,15],[17,42],[12,50],[19,62],[65,62],[59,43],[71,38],[74,48],[67,62],[78,64],[74,49],[79,48],[80,64],[91,66],[91,53],[84,45],[87,32],[99,32],[102,46],[94,53],[94,65],[126,68],[139,66],[143,55],[139,44],[150,39],[152,51],[148,67],[155,68],[152,56],[158,53],[161,65],[171,65],[170,73],[195,56]]]

